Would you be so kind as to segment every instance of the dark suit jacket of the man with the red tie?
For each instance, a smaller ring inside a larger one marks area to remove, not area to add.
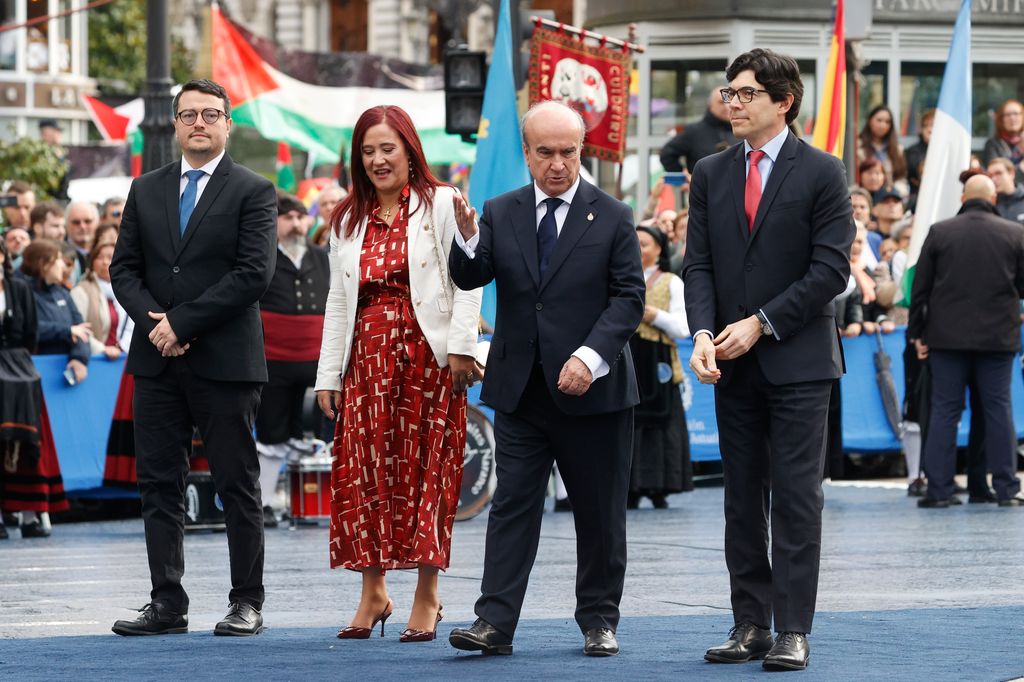
[[[718,334],[764,310],[779,339],[755,353],[775,385],[836,379],[843,351],[833,299],[850,275],[855,233],[843,163],[792,133],[758,205],[754,229],[743,213],[743,144],[697,163],[683,261],[686,317]],[[724,385],[732,363],[719,363]]]

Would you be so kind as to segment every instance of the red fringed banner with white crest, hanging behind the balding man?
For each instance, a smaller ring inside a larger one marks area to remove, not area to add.
[[[629,49],[538,27],[529,51],[529,103],[555,99],[580,112],[587,125],[584,155],[622,163],[630,115]]]

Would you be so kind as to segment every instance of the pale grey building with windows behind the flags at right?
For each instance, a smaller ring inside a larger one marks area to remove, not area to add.
[[[938,101],[959,4],[847,0],[848,30],[851,15],[870,15],[866,37],[854,47],[862,65],[859,87],[848,93],[858,131],[872,106],[887,104],[904,143],[916,140],[918,117]],[[587,0],[588,28],[625,36],[634,23],[638,42],[647,47],[635,57],[630,159],[622,180],[626,198],[642,206],[660,172],[662,145],[679,126],[703,114],[711,91],[724,85],[728,62],[753,47],[791,54],[800,63],[805,91],[797,123],[809,139],[831,22],[828,0]],[[994,109],[1011,97],[1024,99],[1024,0],[975,0],[972,24],[973,133],[980,150],[992,133]],[[598,168],[604,186],[614,185],[614,174],[610,164]]]

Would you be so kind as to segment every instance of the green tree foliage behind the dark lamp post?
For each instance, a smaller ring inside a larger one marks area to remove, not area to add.
[[[136,94],[145,84],[145,0],[115,0],[89,10],[89,76],[100,94]],[[193,75],[193,55],[171,39],[171,78]]]

